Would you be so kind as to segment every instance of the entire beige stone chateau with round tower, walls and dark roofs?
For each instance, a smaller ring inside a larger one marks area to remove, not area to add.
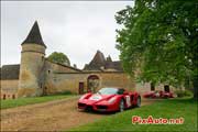
[[[145,92],[154,90],[150,84],[135,84],[123,73],[121,62],[107,58],[100,51],[84,69],[50,62],[45,57],[46,45],[37,22],[22,42],[21,64],[1,67],[1,98],[35,97],[70,91],[84,94],[102,87],[120,87]],[[172,90],[158,86],[162,90]]]

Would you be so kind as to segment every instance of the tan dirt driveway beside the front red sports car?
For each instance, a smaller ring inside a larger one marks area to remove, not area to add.
[[[1,110],[1,131],[62,131],[114,114],[87,113],[77,109],[78,96],[51,102]],[[155,100],[143,100],[142,106]],[[131,111],[134,109],[130,109]]]

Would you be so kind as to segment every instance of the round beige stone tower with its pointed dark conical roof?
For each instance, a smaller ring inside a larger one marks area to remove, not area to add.
[[[21,52],[18,97],[35,97],[43,94],[46,46],[35,21]]]

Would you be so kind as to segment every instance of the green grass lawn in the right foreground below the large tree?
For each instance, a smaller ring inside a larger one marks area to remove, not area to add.
[[[167,99],[151,106],[127,110],[70,131],[196,131],[197,105],[193,99]],[[132,116],[147,118],[184,118],[184,124],[132,124]]]

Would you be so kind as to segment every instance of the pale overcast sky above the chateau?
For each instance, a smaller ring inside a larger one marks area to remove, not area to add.
[[[21,43],[35,20],[46,48],[46,57],[62,52],[82,68],[97,50],[113,61],[116,48],[116,12],[133,1],[1,1],[1,66],[20,64]]]

